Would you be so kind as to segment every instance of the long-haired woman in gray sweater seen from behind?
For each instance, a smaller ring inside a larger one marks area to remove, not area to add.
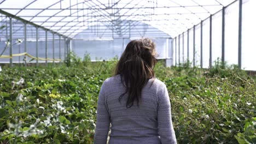
[[[165,84],[155,79],[155,44],[132,40],[98,96],[95,144],[177,143]]]

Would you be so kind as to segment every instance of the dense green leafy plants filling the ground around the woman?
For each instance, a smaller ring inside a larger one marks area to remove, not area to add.
[[[2,143],[92,143],[97,96],[117,58],[67,59],[49,67],[2,67]],[[188,65],[166,68],[160,61],[154,68],[168,88],[178,143],[255,143],[255,80],[235,67]]]

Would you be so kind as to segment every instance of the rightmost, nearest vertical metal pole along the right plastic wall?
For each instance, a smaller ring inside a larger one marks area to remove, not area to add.
[[[239,0],[239,17],[238,17],[238,67],[242,67],[242,4],[243,1]]]

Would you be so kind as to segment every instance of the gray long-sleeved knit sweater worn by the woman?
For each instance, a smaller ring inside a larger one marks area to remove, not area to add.
[[[174,134],[171,105],[165,84],[150,79],[142,89],[142,99],[126,108],[127,94],[120,75],[106,79],[98,96],[95,144],[106,144],[109,124],[112,127],[109,144],[170,144],[177,143]],[[151,85],[152,84],[152,85]]]

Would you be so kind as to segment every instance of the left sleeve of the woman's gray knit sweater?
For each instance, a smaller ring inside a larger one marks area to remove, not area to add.
[[[104,98],[104,84],[101,86],[100,94],[98,95],[97,103],[97,119],[96,119],[96,130],[94,135],[94,144],[106,144],[110,117]]]

